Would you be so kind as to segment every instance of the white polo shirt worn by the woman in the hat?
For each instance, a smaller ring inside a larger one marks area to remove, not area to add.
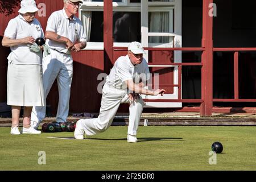
[[[5,34],[10,39],[22,39],[27,36],[36,38],[44,38],[44,32],[39,21],[35,18],[28,23],[22,15],[18,15],[11,19],[8,23]],[[30,51],[27,44],[19,44],[11,47],[11,53],[7,57],[9,63],[13,64],[42,64],[42,51]]]

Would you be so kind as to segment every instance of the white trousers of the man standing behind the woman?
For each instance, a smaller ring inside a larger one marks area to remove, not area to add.
[[[73,77],[73,60],[71,55],[51,49],[51,54],[43,56],[44,96],[47,97],[53,82],[57,78],[59,104],[56,121],[66,122],[69,111],[69,98]],[[33,107],[31,121],[41,122],[46,117],[46,106]]]

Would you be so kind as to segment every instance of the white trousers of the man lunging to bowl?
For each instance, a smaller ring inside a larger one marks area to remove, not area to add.
[[[108,129],[113,122],[115,113],[117,113],[119,105],[121,103],[128,102],[130,101],[125,90],[110,88],[108,85],[105,84],[102,89],[101,109],[98,118],[80,119],[81,126],[84,129],[85,134],[90,136],[101,133]],[[127,133],[130,135],[137,135],[143,106],[144,101],[140,96],[137,102],[134,101],[129,107],[130,115]]]

